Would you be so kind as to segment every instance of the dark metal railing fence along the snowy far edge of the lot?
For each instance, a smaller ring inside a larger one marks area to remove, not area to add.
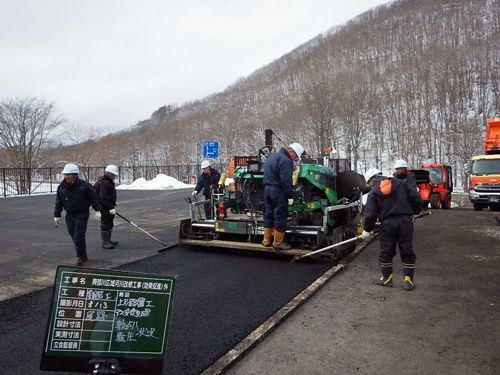
[[[218,171],[226,171],[227,164],[213,164]],[[79,177],[93,183],[104,174],[105,167],[79,167]],[[131,184],[138,178],[152,180],[159,174],[175,178],[186,184],[196,184],[201,173],[199,165],[148,165],[118,167],[119,175],[115,182]],[[1,195],[31,195],[53,193],[64,179],[61,167],[50,168],[0,168]]]

